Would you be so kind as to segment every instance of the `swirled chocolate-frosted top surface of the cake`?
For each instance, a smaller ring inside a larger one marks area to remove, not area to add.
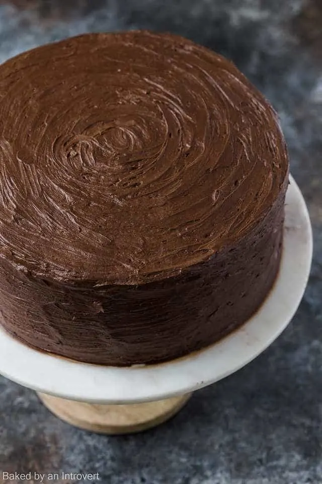
[[[263,220],[288,171],[263,96],[171,34],[86,34],[0,66],[0,256],[55,280],[177,274]]]

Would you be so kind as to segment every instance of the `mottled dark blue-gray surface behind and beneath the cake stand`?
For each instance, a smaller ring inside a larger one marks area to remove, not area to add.
[[[0,377],[0,471],[99,472],[106,484],[321,483],[321,2],[15,3],[29,8],[0,1],[0,61],[79,32],[138,27],[181,33],[232,58],[279,111],[315,248],[304,299],[283,335],[159,428],[126,437],[82,432]]]

